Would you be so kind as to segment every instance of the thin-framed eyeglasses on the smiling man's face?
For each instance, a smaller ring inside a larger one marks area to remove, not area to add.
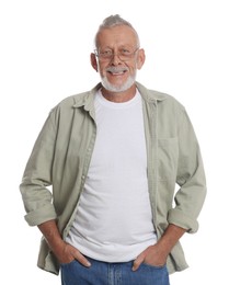
[[[100,60],[111,60],[116,55],[122,61],[126,61],[131,59],[138,49],[139,47],[137,47],[133,52],[127,48],[122,48],[116,54],[112,49],[104,49],[104,50],[94,49],[94,54]]]

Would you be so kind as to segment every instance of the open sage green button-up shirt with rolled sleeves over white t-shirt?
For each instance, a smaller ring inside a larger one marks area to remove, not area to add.
[[[142,96],[148,185],[158,238],[169,224],[195,232],[206,183],[192,124],[174,98],[136,84]],[[64,239],[73,223],[90,166],[96,137],[93,101],[100,88],[98,84],[89,92],[69,96],[51,110],[20,185],[28,225],[57,219]],[[180,189],[175,192],[176,184]],[[59,272],[58,261],[44,238],[37,265]],[[180,242],[167,265],[170,273],[187,267]]]

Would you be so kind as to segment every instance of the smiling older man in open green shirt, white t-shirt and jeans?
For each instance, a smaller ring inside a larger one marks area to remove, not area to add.
[[[136,82],[145,50],[127,21],[105,19],[95,48],[101,83],[50,112],[20,186],[38,266],[65,285],[168,285],[205,200],[198,144],[175,99]]]

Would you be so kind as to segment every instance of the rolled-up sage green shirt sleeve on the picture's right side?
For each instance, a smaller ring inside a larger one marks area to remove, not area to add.
[[[206,196],[206,179],[202,155],[192,123],[185,110],[181,112],[179,127],[179,163],[175,207],[169,212],[168,220],[187,232],[198,229],[197,217]]]

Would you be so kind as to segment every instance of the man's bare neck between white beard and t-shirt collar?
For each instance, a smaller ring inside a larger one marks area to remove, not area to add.
[[[114,103],[124,103],[131,100],[136,94],[136,86],[131,86],[129,89],[123,92],[112,92],[102,87],[101,92],[103,96]]]

